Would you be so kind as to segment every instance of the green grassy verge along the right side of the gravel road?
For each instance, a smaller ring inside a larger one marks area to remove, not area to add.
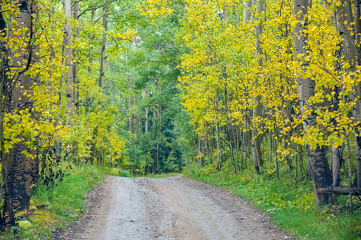
[[[341,196],[333,206],[314,206],[310,181],[300,182],[296,187],[288,178],[277,180],[267,173],[260,176],[245,170],[235,176],[230,172],[227,169],[218,172],[212,166],[198,169],[194,165],[186,168],[184,176],[218,185],[250,200],[272,217],[273,224],[297,239],[361,239],[361,204],[356,198],[355,212],[348,215],[348,196]]]

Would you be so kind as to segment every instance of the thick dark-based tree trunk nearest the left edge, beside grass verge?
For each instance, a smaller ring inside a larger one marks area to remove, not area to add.
[[[4,70],[1,68],[2,82],[1,82],[1,93],[4,94],[4,101],[1,101],[1,165],[2,165],[2,179],[3,181],[7,180],[7,184],[4,184],[5,190],[5,202],[4,207],[9,214],[10,223],[15,224],[14,214],[23,210],[28,210],[30,207],[30,197],[32,193],[32,185],[38,183],[38,157],[36,156],[36,149],[28,149],[26,144],[18,143],[13,144],[13,148],[10,149],[9,154],[4,154],[4,126],[2,125],[4,121],[4,110],[10,113],[13,110],[16,110],[17,113],[20,110],[28,109],[31,113],[31,117],[37,118],[37,115],[32,112],[33,101],[28,98],[28,96],[23,95],[23,91],[28,91],[29,93],[33,92],[34,83],[36,84],[36,79],[33,79],[29,75],[24,75],[24,73],[29,69],[30,64],[34,64],[38,61],[35,59],[34,48],[35,45],[30,44],[29,39],[34,38],[34,16],[38,18],[38,8],[35,6],[34,1],[23,0],[20,1],[19,5],[20,13],[14,20],[18,23],[24,23],[21,28],[23,29],[23,35],[19,36],[20,45],[26,45],[26,50],[16,50],[18,57],[13,57],[12,62],[17,64],[17,67],[13,70],[12,74],[15,77],[9,83],[9,87],[4,89],[4,82],[7,76],[5,76]],[[24,29],[26,29],[24,31]],[[28,38],[28,40],[27,40]],[[25,47],[24,47],[25,48]],[[2,50],[2,52],[4,52]],[[24,60],[26,63],[24,64]],[[6,62],[6,61],[4,61]],[[18,78],[17,78],[18,77]],[[21,85],[21,87],[18,86]],[[6,105],[7,101],[11,101],[11,105]],[[26,138],[26,141],[30,139]],[[36,142],[36,140],[35,140]],[[25,156],[23,152],[29,152],[33,154],[33,158]]]

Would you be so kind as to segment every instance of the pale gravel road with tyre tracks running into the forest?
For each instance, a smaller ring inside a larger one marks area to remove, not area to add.
[[[292,239],[228,190],[180,176],[107,176],[53,239]]]

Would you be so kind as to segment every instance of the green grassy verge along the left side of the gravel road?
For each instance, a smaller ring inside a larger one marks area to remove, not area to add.
[[[31,205],[42,206],[42,209],[36,209],[23,219],[21,227],[18,227],[18,239],[48,239],[53,230],[76,220],[84,210],[87,193],[106,175],[116,174],[106,167],[73,166],[72,170],[65,170],[65,177],[53,189],[52,198],[49,198],[45,187],[39,185]],[[15,239],[13,229],[0,233],[0,239]]]

